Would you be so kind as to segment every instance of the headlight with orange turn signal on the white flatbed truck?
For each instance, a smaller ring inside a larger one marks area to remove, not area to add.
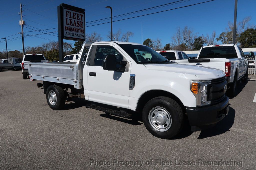
[[[207,101],[207,86],[209,84],[211,84],[211,80],[191,81],[190,89],[196,97],[197,106],[211,104],[211,101]]]

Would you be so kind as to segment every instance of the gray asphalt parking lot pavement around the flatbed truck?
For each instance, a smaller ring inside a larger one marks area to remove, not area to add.
[[[254,169],[256,77],[249,77],[216,127],[193,133],[185,128],[164,140],[146,130],[140,115],[138,121],[108,116],[86,108],[83,100],[51,110],[39,81],[2,71],[0,169]]]

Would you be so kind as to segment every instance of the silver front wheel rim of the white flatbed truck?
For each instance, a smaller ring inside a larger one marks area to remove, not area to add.
[[[150,125],[157,131],[166,131],[172,124],[170,113],[163,107],[154,107],[148,114]]]

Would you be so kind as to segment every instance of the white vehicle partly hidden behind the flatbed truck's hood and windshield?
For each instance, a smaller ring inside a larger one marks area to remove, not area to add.
[[[188,56],[183,51],[177,51],[177,50],[166,50],[166,51],[157,51],[159,54],[164,56],[170,61],[173,61],[175,63],[179,63],[182,60],[188,60]]]

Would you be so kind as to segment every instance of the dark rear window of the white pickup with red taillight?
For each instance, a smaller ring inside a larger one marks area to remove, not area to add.
[[[198,58],[237,58],[234,46],[202,48]]]

